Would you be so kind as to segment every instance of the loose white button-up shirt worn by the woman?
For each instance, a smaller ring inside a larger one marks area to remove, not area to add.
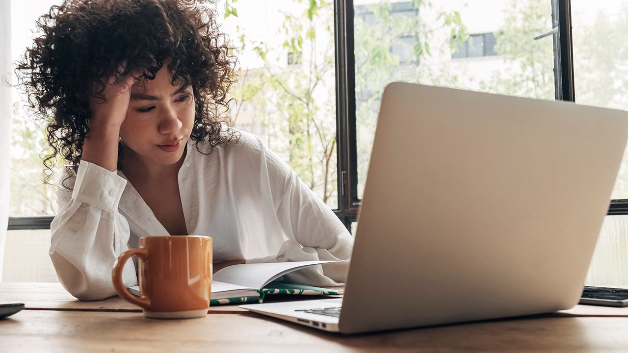
[[[285,279],[318,286],[344,282],[353,239],[342,222],[257,136],[237,133],[237,143],[209,155],[197,151],[192,139],[187,143],[178,183],[188,234],[212,237],[215,262],[341,260]],[[77,173],[64,168],[57,187],[50,258],[59,280],[82,300],[115,295],[111,269],[117,257],[137,247],[139,237],[168,231],[122,171],[80,161]],[[137,284],[136,266],[129,261],[122,271],[127,286]]]

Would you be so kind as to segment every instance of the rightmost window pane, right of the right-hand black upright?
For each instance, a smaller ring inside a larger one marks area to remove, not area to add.
[[[576,102],[628,109],[628,3],[571,0]],[[628,198],[628,155],[611,198]]]

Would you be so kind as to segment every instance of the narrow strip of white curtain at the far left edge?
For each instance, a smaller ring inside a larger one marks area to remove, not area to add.
[[[9,221],[11,180],[11,0],[0,0],[0,281]]]

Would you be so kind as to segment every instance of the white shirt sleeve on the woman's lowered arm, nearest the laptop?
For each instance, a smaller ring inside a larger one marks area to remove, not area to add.
[[[274,256],[248,259],[247,263],[336,260],[284,276],[292,283],[337,286],[347,279],[353,237],[340,219],[290,166],[264,148],[276,215],[288,238]]]

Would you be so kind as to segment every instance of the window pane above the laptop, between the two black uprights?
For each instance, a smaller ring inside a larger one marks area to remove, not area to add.
[[[355,0],[358,197],[386,84],[555,99],[551,29],[550,0]]]

